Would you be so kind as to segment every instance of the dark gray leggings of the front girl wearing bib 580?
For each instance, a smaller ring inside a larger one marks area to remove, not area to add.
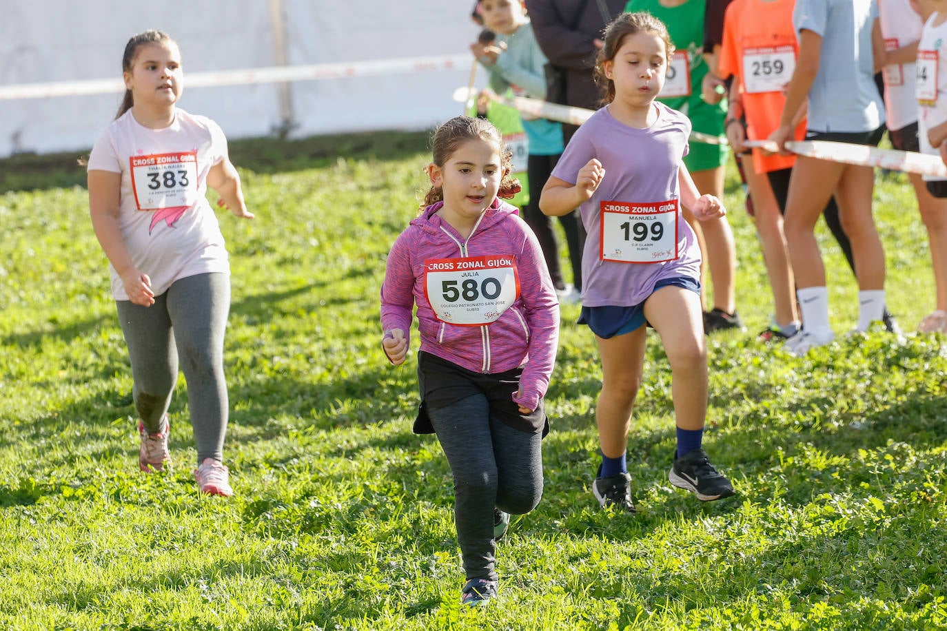
[[[504,425],[483,394],[428,407],[427,413],[454,474],[457,543],[467,580],[495,581],[493,507],[522,515],[539,503],[543,434]]]

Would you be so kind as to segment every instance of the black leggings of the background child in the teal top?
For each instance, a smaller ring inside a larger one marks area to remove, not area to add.
[[[529,176],[529,203],[523,208],[523,219],[532,229],[543,249],[545,266],[549,268],[552,284],[563,289],[563,269],[559,265],[559,242],[553,232],[552,218],[546,217],[539,209],[539,197],[553,167],[559,162],[559,155],[529,155],[527,174]],[[579,219],[579,211],[574,210],[559,218],[565,231],[565,243],[569,247],[569,263],[572,265],[573,285],[582,289],[582,248],[585,247],[585,228]]]

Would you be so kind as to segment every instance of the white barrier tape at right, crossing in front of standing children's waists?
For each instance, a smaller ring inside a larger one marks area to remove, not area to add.
[[[749,140],[747,147],[775,152],[776,143],[769,140]],[[791,140],[786,149],[798,155],[819,160],[830,160],[859,167],[881,167],[908,173],[920,173],[937,178],[947,178],[947,166],[936,155],[898,149],[878,149],[867,145],[850,145],[828,140]]]

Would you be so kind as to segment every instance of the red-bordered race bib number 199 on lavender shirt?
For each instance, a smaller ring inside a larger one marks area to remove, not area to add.
[[[677,200],[600,202],[603,261],[661,263],[677,258]]]

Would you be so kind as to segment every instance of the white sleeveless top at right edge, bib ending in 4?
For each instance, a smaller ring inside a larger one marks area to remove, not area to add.
[[[927,141],[927,131],[947,120],[947,22],[933,26],[934,13],[920,30],[916,82],[918,97],[918,136],[920,152],[940,155]],[[942,180],[925,175],[924,180]]]

